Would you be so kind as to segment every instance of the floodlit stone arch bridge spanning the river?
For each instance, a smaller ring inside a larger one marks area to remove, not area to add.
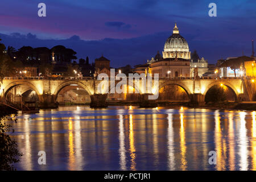
[[[154,78],[152,79],[154,83]],[[91,98],[91,106],[104,106],[106,102],[106,97],[108,93],[102,92],[100,89],[100,83],[102,81],[95,80],[92,77],[84,78],[59,78],[59,79],[50,79],[45,80],[43,78],[10,78],[6,77],[3,79],[0,95],[1,101],[5,101],[7,94],[15,86],[24,86],[24,89],[21,89],[20,94],[26,92],[27,90],[34,90],[38,94],[39,102],[41,107],[56,107],[57,106],[57,95],[61,89],[68,85],[78,85],[81,86]],[[115,85],[119,81],[115,81]],[[110,86],[109,81],[109,90],[113,89]],[[151,94],[154,86],[151,86],[150,89],[144,89],[140,86],[141,80],[133,82],[133,87],[139,94]],[[159,78],[159,90],[165,85],[178,85],[185,90],[188,94],[189,100],[196,103],[204,102],[204,97],[208,90],[213,85],[225,85],[232,90],[236,101],[251,101],[252,97],[246,88],[244,78]],[[153,84],[154,85],[154,84]],[[112,86],[113,87],[113,86]],[[147,90],[147,91],[145,91]],[[143,97],[145,99],[146,97]]]

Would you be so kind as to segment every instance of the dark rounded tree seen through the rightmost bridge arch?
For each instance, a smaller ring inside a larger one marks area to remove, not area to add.
[[[214,85],[210,88],[205,95],[205,102],[223,102],[226,100],[226,94],[224,88],[219,85]]]

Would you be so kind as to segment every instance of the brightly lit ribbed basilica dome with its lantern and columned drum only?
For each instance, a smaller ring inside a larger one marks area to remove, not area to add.
[[[179,28],[175,23],[172,35],[164,44],[163,58],[191,59],[191,53],[187,41],[179,34]]]

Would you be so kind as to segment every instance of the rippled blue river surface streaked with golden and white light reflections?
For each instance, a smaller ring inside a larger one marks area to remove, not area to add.
[[[18,170],[256,170],[255,111],[87,106],[18,115]],[[38,152],[46,151],[46,165]],[[217,164],[210,165],[209,151]]]

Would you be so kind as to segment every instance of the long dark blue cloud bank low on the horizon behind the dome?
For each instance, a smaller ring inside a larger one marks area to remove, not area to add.
[[[90,63],[100,57],[102,53],[111,60],[111,67],[121,67],[127,64],[136,65],[146,63],[147,59],[154,57],[159,50],[163,51],[164,42],[171,35],[168,32],[158,32],[151,35],[139,36],[130,39],[112,39],[102,40],[81,40],[79,36],[72,36],[69,39],[62,40],[43,40],[28,39],[27,36],[15,33],[11,35],[0,34],[0,39],[5,46],[13,46],[16,49],[22,46],[48,47],[63,45],[72,48],[77,52],[78,59],[89,56]],[[244,41],[226,41],[223,39],[203,40],[199,39],[198,34],[182,34],[187,40],[191,52],[196,50],[201,57],[204,57],[209,63],[215,64],[221,57],[251,55],[250,40]],[[35,35],[32,36],[35,38]]]

